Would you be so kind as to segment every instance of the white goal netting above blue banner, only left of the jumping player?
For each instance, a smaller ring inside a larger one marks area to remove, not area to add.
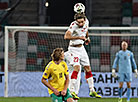
[[[42,71],[51,60],[51,53],[56,47],[65,50],[68,41],[64,33],[45,31],[11,31],[9,33],[9,71]]]

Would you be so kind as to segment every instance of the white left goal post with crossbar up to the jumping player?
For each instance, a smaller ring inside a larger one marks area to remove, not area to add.
[[[50,33],[52,32],[52,34],[62,34],[65,32],[65,30],[67,29],[67,27],[34,27],[34,26],[5,26],[5,54],[4,54],[4,61],[5,61],[5,66],[4,66],[4,73],[5,73],[5,93],[4,93],[4,97],[8,97],[8,93],[9,93],[9,55],[12,56],[12,57],[16,57],[17,56],[17,49],[16,49],[16,41],[15,41],[15,33],[17,32],[34,32],[34,35],[36,34],[35,32],[39,32],[39,33]],[[33,35],[33,34],[32,34]],[[40,43],[45,43],[45,42],[40,42]],[[52,42],[51,42],[52,43]],[[57,43],[57,42],[56,42]],[[18,44],[17,44],[18,46]],[[9,50],[11,50],[12,52],[9,54]],[[41,49],[40,49],[41,50]],[[42,56],[41,54],[38,55],[38,56]],[[49,55],[50,56],[50,55]],[[13,61],[13,59],[12,59]],[[10,64],[13,64],[11,65],[11,71],[13,71],[14,67],[17,66],[17,59],[14,58],[14,63],[11,62]],[[20,71],[20,70],[17,70],[17,71]],[[14,72],[16,72],[14,70]]]

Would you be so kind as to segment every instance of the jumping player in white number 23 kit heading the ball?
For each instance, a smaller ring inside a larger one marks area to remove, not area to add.
[[[85,70],[85,77],[90,89],[89,95],[101,98],[101,96],[95,92],[89,57],[83,46],[84,43],[86,45],[90,43],[88,37],[89,21],[83,12],[76,13],[74,19],[75,21],[71,23],[64,35],[64,39],[70,40],[68,51],[73,54],[73,72],[70,80],[70,91],[73,98],[78,97],[75,93],[74,85],[77,83],[78,72],[80,71],[80,66],[82,66]]]

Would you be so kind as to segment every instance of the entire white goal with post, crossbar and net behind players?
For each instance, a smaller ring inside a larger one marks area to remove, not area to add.
[[[5,27],[5,97],[47,96],[41,77],[53,49],[68,49],[67,27]],[[138,27],[90,27],[85,45],[93,72],[111,72],[121,41],[128,42],[138,65]]]

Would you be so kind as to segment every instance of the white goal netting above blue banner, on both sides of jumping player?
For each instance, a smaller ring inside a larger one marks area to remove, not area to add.
[[[19,28],[20,29],[20,28]],[[43,65],[51,59],[53,49],[68,48],[64,40],[65,30],[9,30],[9,71],[42,71]],[[85,46],[93,71],[111,71],[115,53],[120,50],[121,41],[129,44],[129,50],[138,55],[138,34],[136,30],[90,30],[91,43]]]

